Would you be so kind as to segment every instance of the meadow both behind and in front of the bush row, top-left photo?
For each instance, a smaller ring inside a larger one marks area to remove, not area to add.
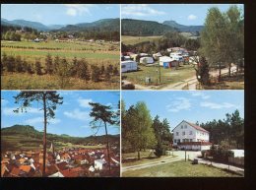
[[[119,70],[119,44],[104,42],[88,42],[88,41],[65,41],[57,42],[48,40],[47,42],[32,41],[1,41],[1,57],[3,54],[20,55],[22,60],[26,59],[29,63],[34,63],[35,59],[41,62],[41,66],[45,66],[45,57],[50,54],[52,59],[55,56],[66,58],[68,62],[72,62],[74,57],[77,59],[85,58],[89,64],[100,67],[104,65],[113,65]],[[28,73],[8,73],[4,72],[1,76],[1,85],[4,90],[38,90],[38,89],[66,89],[66,90],[114,90],[119,89],[119,76],[112,76],[110,80],[99,82],[85,82],[78,78],[71,78],[69,84],[65,88],[61,88],[58,79],[54,75],[35,75]]]

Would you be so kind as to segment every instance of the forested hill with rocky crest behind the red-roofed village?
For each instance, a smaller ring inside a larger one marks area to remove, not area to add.
[[[1,129],[1,145],[5,150],[17,150],[19,147],[39,146],[42,142],[43,132],[35,130],[30,125],[14,125]],[[111,143],[119,142],[118,135],[108,135]],[[47,142],[71,143],[76,145],[105,144],[106,136],[72,137],[66,134],[56,135],[47,133]]]

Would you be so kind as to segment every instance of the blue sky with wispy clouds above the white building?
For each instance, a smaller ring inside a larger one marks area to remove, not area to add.
[[[192,123],[224,119],[238,109],[244,118],[244,91],[142,91],[122,92],[126,109],[145,101],[152,117],[166,118],[172,130],[182,120]]]

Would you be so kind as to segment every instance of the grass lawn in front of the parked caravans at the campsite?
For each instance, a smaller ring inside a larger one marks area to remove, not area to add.
[[[137,72],[122,73],[122,76],[127,77],[126,80],[134,84],[143,86],[158,86],[158,88],[166,85],[175,84],[182,80],[192,78],[195,76],[195,70],[193,65],[181,65],[177,70],[175,69],[164,69],[159,66],[143,66],[139,65],[140,70]],[[150,77],[152,83],[146,84],[146,77]],[[159,78],[161,84],[159,85]]]

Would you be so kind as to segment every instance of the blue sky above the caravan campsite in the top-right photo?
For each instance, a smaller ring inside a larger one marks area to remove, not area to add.
[[[121,6],[121,18],[160,23],[173,20],[181,25],[204,25],[208,9],[214,6],[224,12],[230,4],[129,4]],[[243,4],[237,6],[243,13]]]

